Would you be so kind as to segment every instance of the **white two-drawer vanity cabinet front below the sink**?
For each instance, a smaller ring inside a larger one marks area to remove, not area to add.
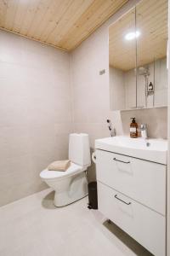
[[[156,256],[166,248],[166,165],[96,150],[99,211]]]

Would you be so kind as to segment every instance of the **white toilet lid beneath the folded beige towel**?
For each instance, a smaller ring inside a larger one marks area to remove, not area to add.
[[[71,163],[71,166],[66,171],[48,171],[48,169],[45,169],[40,173],[40,177],[44,179],[66,177],[75,172],[82,172],[82,166],[78,166],[74,163]]]

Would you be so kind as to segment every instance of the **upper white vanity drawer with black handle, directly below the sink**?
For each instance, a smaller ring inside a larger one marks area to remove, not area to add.
[[[96,150],[97,180],[165,215],[166,166]]]

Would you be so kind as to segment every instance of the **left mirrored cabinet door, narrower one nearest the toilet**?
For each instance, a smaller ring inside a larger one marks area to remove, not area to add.
[[[109,27],[109,64],[111,110],[136,108],[135,8]]]

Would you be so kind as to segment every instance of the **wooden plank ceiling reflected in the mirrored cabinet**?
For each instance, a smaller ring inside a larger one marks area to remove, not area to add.
[[[144,66],[167,55],[167,0],[143,0],[136,7],[137,66]],[[109,29],[110,65],[127,71],[135,67],[135,40],[125,40],[135,31],[135,9]]]

